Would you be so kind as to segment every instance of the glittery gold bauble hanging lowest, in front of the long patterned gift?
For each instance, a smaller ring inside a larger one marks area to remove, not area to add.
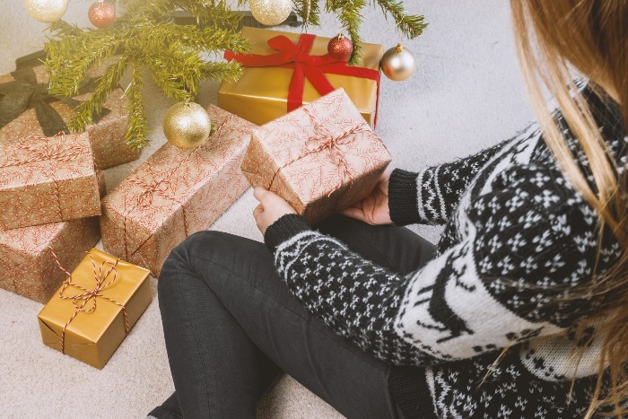
[[[179,148],[195,148],[205,143],[211,131],[212,121],[198,103],[175,103],[163,117],[163,134],[170,144]]]

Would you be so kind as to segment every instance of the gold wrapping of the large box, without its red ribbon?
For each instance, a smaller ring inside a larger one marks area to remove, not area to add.
[[[268,39],[284,35],[293,43],[299,40],[300,33],[270,31],[257,28],[242,28],[242,36],[249,39],[249,54],[271,55],[276,51],[268,46]],[[310,55],[327,54],[329,38],[316,37]],[[362,43],[362,59],[359,66],[379,71],[379,61],[384,47],[378,44]],[[222,82],[218,90],[218,106],[222,109],[264,125],[287,113],[288,86],[292,78],[291,68],[282,67],[243,67],[237,82]],[[371,127],[375,126],[378,83],[375,80],[341,74],[325,74],[336,89],[344,88]],[[303,104],[320,97],[310,81],[305,80]]]

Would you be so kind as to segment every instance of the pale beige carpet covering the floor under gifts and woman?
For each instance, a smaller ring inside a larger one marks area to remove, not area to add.
[[[89,24],[92,2],[73,0],[66,20]],[[41,48],[44,24],[32,20],[21,0],[0,0],[0,74],[13,61]],[[510,33],[508,2],[503,0],[406,0],[424,13],[430,26],[420,39],[406,42],[418,71],[405,83],[383,80],[379,135],[398,167],[419,169],[449,161],[513,135],[532,114],[521,86]],[[364,38],[392,47],[397,34],[379,9],[364,19]],[[327,16],[317,33],[333,36],[335,19]],[[205,83],[202,104],[216,102],[217,83]],[[171,102],[146,83],[153,145],[164,142],[161,118]],[[109,190],[141,161],[107,170]],[[260,240],[252,221],[250,191],[212,228]],[[417,228],[435,241],[438,228]],[[154,285],[153,280],[153,285]],[[153,286],[154,292],[154,286]],[[156,301],[146,310],[109,364],[98,371],[59,354],[40,342],[39,303],[0,290],[0,406],[3,418],[141,418],[170,396],[173,387]],[[289,377],[280,380],[259,407],[260,417],[340,417],[325,402]]]

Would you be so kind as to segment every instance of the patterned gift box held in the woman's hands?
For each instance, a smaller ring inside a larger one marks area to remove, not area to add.
[[[242,172],[316,224],[368,196],[389,162],[386,146],[338,89],[258,128]]]

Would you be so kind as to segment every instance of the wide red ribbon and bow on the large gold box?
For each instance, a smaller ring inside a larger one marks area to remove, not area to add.
[[[277,51],[269,56],[257,54],[234,54],[225,51],[224,58],[227,61],[236,60],[245,67],[282,67],[293,68],[292,79],[288,88],[288,112],[298,109],[303,105],[303,89],[307,78],[317,92],[324,96],[336,89],[329,83],[325,74],[342,74],[362,77],[377,82],[377,101],[375,105],[375,118],[379,104],[379,71],[371,68],[350,66],[346,61],[336,60],[325,54],[324,56],[311,56],[310,49],[314,44],[315,35],[302,33],[297,45],[283,35],[268,39],[268,46]],[[377,120],[377,119],[376,119]]]

